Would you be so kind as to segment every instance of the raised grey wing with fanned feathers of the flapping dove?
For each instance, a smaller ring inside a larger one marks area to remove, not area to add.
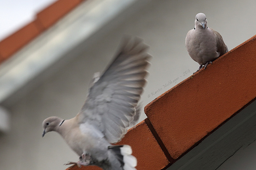
[[[120,52],[98,81],[78,113],[81,123],[100,130],[110,143],[124,137],[136,115],[151,57],[139,38],[126,39]]]

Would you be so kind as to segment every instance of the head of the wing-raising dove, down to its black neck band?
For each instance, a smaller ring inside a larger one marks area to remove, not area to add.
[[[47,132],[56,131],[64,121],[65,121],[64,119],[61,119],[60,117],[56,117],[56,116],[48,117],[47,119],[45,119],[42,124],[44,128],[42,137],[44,137],[44,135]]]

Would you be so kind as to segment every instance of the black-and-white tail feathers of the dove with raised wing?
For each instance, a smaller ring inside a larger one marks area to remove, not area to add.
[[[111,145],[111,149],[124,170],[136,170],[137,159],[132,156],[132,148],[129,145]]]

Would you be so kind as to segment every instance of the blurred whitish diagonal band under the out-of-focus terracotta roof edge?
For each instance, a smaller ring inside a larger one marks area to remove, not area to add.
[[[136,1],[84,1],[0,65],[0,103]]]

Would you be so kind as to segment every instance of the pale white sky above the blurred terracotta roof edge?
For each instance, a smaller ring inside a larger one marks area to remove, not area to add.
[[[0,41],[32,21],[56,0],[0,0]]]

